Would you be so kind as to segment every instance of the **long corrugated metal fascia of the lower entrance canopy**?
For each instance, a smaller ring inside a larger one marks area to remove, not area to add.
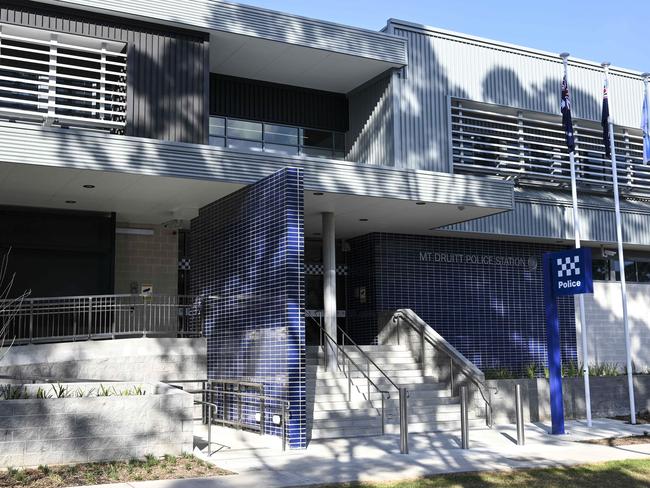
[[[348,161],[273,156],[213,146],[0,123],[4,162],[249,184],[303,168],[308,190],[509,210],[512,183]],[[74,154],[73,160],[69,155]]]

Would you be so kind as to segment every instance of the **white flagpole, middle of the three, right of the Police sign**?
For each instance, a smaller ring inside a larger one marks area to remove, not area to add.
[[[605,87],[607,88],[607,99],[609,104],[609,116],[607,125],[609,128],[609,144],[612,156],[612,183],[614,186],[614,212],[616,213],[616,240],[618,242],[618,266],[621,276],[621,301],[623,303],[623,329],[625,333],[625,355],[627,362],[627,389],[630,396],[630,423],[636,424],[636,406],[634,404],[634,378],[632,377],[632,353],[630,350],[630,328],[627,317],[627,289],[625,285],[625,257],[623,256],[623,232],[621,230],[621,206],[618,195],[618,168],[616,164],[616,145],[614,144],[614,121],[612,120],[612,104],[609,90],[609,65],[602,63],[605,71]]]

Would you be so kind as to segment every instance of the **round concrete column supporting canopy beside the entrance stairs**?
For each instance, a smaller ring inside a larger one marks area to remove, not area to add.
[[[323,325],[327,333],[336,340],[336,230],[334,214],[323,213]],[[326,341],[327,368],[336,370],[336,347]]]

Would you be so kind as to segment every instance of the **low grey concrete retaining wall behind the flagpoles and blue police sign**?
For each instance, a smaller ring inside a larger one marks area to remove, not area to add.
[[[551,418],[550,390],[546,379],[488,380],[492,388],[492,412],[495,423],[515,422],[515,385],[521,385],[526,422]],[[494,390],[496,388],[496,391]],[[562,380],[564,414],[567,419],[586,417],[583,378]],[[628,415],[627,376],[590,378],[591,413],[596,417]],[[650,375],[634,376],[637,411],[650,410]]]

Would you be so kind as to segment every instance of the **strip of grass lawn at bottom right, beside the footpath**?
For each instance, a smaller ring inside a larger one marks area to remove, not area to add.
[[[568,468],[462,473],[392,483],[343,483],[320,488],[636,488],[650,487],[650,459]]]

